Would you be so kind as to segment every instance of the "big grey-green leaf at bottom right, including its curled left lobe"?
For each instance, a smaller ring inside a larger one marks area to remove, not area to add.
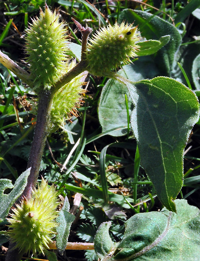
[[[139,213],[127,220],[123,239],[110,252],[104,250],[104,246],[112,245],[111,238],[104,237],[108,228],[101,224],[94,241],[96,254],[103,261],[199,260],[199,209],[183,199],[175,203],[177,213],[164,208],[160,212]]]

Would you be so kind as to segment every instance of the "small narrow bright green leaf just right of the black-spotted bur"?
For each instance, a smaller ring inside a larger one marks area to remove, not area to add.
[[[170,40],[170,35],[162,36],[159,40],[146,40],[139,42],[138,45],[140,46],[137,55],[151,55],[161,49],[164,45],[166,45]]]

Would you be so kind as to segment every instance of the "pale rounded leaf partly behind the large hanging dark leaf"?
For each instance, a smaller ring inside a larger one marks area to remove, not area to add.
[[[128,98],[129,114],[131,114],[133,105],[125,85],[110,79],[103,87],[99,102],[99,122],[102,126],[102,132],[124,125],[125,128],[111,131],[108,134],[112,136],[127,134],[128,122],[124,120],[127,119],[125,93]]]

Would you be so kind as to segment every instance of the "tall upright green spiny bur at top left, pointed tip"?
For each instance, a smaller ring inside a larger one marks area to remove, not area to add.
[[[45,12],[40,10],[39,18],[32,19],[25,39],[27,62],[35,90],[39,86],[53,85],[61,77],[68,59],[66,30],[63,22],[59,23],[59,14],[46,5]]]

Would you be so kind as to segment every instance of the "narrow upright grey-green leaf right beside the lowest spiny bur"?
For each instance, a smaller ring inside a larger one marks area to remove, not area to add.
[[[70,204],[66,196],[63,207],[59,212],[59,216],[56,218],[56,222],[59,223],[59,226],[56,228],[56,247],[61,255],[63,255],[63,252],[67,246],[70,227],[75,219],[75,216],[68,212],[69,209]]]

